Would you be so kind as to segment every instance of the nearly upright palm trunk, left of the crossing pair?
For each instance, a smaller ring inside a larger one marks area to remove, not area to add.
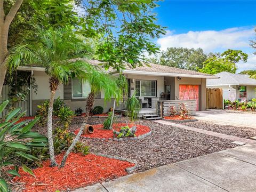
[[[54,95],[55,95],[55,91],[51,91],[51,98],[49,101],[48,119],[47,119],[47,138],[48,138],[51,166],[58,165],[55,160],[53,136],[52,136],[52,111],[53,111]]]

